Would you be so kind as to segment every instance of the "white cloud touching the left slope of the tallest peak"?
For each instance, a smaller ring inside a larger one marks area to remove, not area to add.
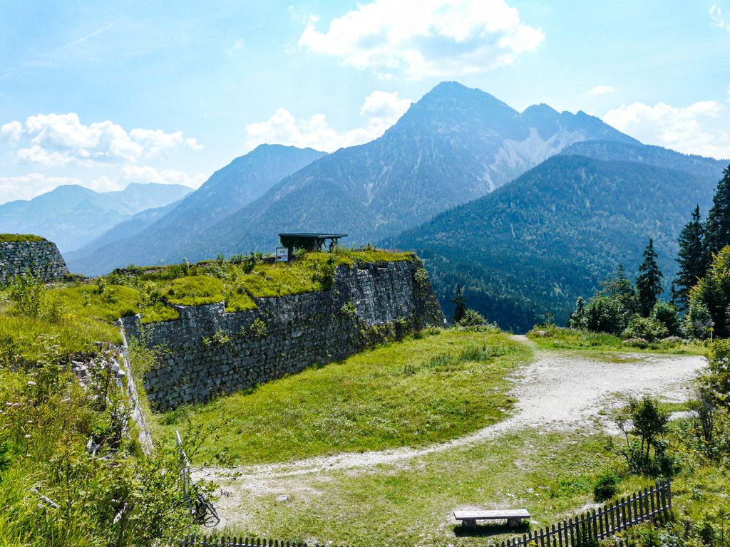
[[[323,114],[312,115],[308,120],[297,120],[282,107],[265,122],[246,126],[246,144],[250,148],[263,143],[287,144],[332,152],[377,139],[396,123],[410,104],[410,99],[399,98],[398,93],[374,91],[365,98],[360,108],[360,114],[366,117],[365,125],[342,133],[332,128]]]

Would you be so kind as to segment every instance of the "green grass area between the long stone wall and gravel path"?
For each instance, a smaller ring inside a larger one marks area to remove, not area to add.
[[[250,464],[445,441],[507,416],[506,377],[529,348],[494,330],[416,338],[155,415],[155,436],[171,443],[207,424],[208,449]]]

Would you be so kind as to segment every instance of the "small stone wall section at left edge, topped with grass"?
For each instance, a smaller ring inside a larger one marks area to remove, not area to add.
[[[45,282],[69,273],[66,262],[52,241],[0,241],[0,284],[30,273]]]

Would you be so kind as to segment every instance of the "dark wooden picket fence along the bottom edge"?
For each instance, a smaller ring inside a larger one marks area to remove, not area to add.
[[[492,547],[580,547],[592,540],[605,540],[617,532],[657,517],[668,516],[672,509],[672,485],[669,480],[657,483],[628,497],[552,526],[528,532],[521,538],[494,543]],[[307,543],[261,538],[211,538],[188,536],[178,547],[308,547]],[[615,547],[626,543],[615,538]],[[309,547],[325,547],[317,544]],[[336,547],[327,545],[326,547]],[[344,546],[343,546],[344,547]]]

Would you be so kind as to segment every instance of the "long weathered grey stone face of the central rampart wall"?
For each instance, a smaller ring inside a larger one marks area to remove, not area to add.
[[[445,323],[418,259],[340,266],[331,290],[255,302],[257,309],[235,313],[223,303],[180,306],[180,319],[150,325],[121,320],[128,338],[163,349],[144,379],[155,410],[253,387]]]

